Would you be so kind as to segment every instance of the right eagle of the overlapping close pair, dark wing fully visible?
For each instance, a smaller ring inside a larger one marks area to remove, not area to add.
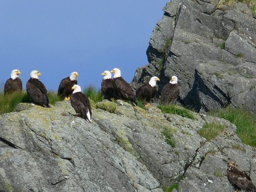
[[[121,71],[114,68],[111,73],[114,73],[113,88],[117,99],[129,100],[136,103],[135,94],[130,86],[122,77]]]

